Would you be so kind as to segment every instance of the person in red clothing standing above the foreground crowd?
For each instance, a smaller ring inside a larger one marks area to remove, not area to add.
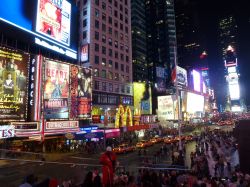
[[[108,146],[106,152],[101,155],[100,163],[103,165],[102,166],[103,187],[113,187],[116,155],[114,152],[112,152],[112,148],[110,146]]]

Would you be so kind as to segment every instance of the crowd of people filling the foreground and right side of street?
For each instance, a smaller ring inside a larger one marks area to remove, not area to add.
[[[183,167],[184,158],[181,161],[181,157],[184,155],[183,151],[179,152],[177,157],[173,156],[178,150],[177,145],[170,146],[170,150],[162,147],[159,152],[161,156],[172,154],[171,166],[157,168],[153,167],[156,163],[151,163],[137,168],[137,172],[126,172],[124,168],[121,170],[121,167],[117,167],[116,155],[112,152],[111,147],[108,147],[100,157],[102,169],[95,168],[89,171],[80,185],[73,185],[72,181],[65,181],[61,186],[248,187],[250,186],[250,175],[240,172],[239,163],[233,158],[237,147],[232,137],[232,134],[228,132],[206,131],[202,133],[195,139],[196,147],[190,154],[190,169]],[[176,164],[182,166],[176,166]],[[53,187],[53,184],[55,186],[56,183],[52,181],[48,184],[50,184],[48,186]]]

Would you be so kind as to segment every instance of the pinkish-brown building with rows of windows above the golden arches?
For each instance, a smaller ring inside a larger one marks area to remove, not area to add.
[[[80,63],[93,69],[93,115],[132,105],[130,0],[80,1]],[[111,119],[113,121],[113,119]]]

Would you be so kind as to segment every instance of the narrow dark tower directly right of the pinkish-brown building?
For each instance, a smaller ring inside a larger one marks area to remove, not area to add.
[[[131,0],[133,80],[148,81],[145,0]]]

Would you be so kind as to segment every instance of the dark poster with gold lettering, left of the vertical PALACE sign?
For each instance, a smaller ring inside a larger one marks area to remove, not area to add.
[[[0,121],[27,117],[29,55],[0,48]]]

